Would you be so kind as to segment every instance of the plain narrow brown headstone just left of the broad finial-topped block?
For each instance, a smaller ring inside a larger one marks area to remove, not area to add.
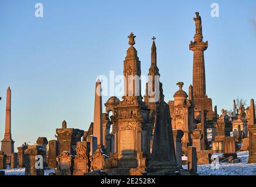
[[[59,142],[57,140],[49,141],[49,150],[47,157],[47,164],[49,168],[57,168],[56,157],[59,155]]]

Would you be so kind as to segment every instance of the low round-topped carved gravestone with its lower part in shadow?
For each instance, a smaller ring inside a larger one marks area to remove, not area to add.
[[[57,156],[56,161],[56,175],[73,175],[74,157],[69,153],[69,151],[63,151],[59,156]]]

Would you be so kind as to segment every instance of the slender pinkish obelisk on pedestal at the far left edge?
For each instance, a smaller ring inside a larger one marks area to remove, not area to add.
[[[2,140],[1,150],[9,157],[14,152],[14,141],[11,134],[11,88],[8,87],[6,94],[6,116],[5,116],[5,136]]]

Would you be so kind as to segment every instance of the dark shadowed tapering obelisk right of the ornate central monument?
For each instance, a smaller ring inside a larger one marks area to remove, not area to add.
[[[178,174],[179,169],[176,161],[170,110],[163,98],[160,99],[156,113],[153,148],[149,166],[146,169],[147,175],[175,175]]]

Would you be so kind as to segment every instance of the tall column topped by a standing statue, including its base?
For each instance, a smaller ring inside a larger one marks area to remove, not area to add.
[[[200,113],[207,110],[207,119],[213,119],[212,101],[206,95],[206,72],[204,67],[204,51],[207,50],[208,41],[203,41],[202,20],[199,12],[196,12],[196,34],[194,41],[190,41],[189,49],[194,52],[193,55],[193,94],[195,117],[200,119]]]

